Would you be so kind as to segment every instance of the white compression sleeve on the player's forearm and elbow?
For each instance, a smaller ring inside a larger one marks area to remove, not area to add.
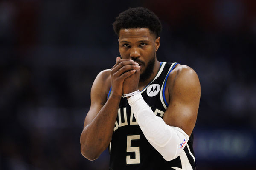
[[[148,142],[166,161],[177,158],[186,146],[189,136],[179,127],[169,126],[156,116],[141,94],[131,96],[128,102]]]

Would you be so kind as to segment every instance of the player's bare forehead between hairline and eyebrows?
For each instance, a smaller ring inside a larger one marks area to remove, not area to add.
[[[120,29],[119,40],[124,39],[153,39],[154,34],[148,28],[128,28]]]

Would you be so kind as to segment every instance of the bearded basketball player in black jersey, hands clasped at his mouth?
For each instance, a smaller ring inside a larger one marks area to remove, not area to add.
[[[197,74],[157,61],[161,23],[148,9],[129,8],[113,27],[121,56],[93,82],[82,155],[94,160],[108,147],[110,170],[195,170]]]

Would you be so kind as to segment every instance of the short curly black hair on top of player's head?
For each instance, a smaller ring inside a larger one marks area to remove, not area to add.
[[[152,11],[144,7],[137,7],[129,8],[120,13],[113,23],[113,28],[118,36],[121,29],[148,28],[157,38],[160,36],[162,25],[159,18]]]

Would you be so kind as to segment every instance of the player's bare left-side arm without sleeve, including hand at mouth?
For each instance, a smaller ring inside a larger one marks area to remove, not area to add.
[[[97,159],[108,147],[123,94],[123,81],[134,74],[137,67],[129,59],[118,58],[111,70],[102,71],[93,82],[91,106],[80,137],[81,153],[87,159]],[[110,82],[112,92],[107,100]]]

